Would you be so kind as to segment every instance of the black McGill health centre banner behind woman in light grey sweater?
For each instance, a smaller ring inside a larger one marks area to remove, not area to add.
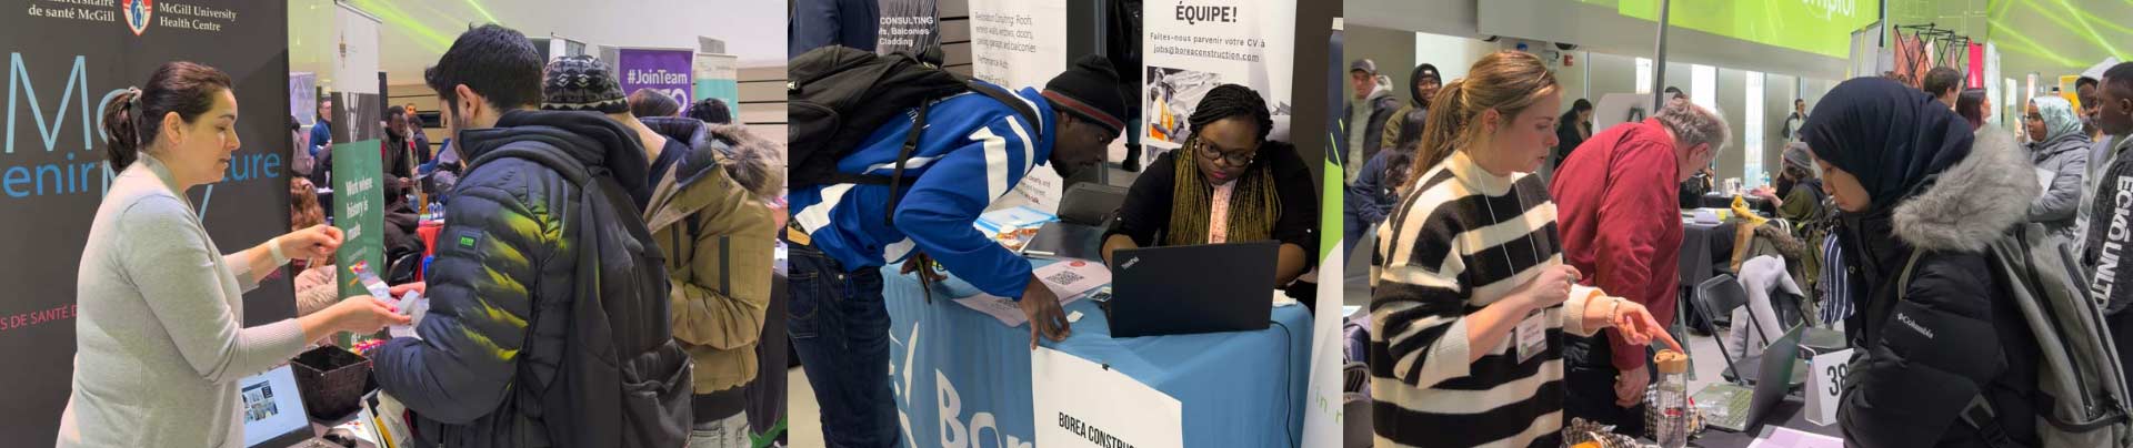
[[[0,149],[0,446],[51,444],[75,356],[75,273],[105,169],[102,100],[190,60],[237,81],[241,149],[192,205],[222,250],[288,233],[288,4],[277,0],[6,0]],[[171,267],[188,269],[188,267]],[[207,273],[203,273],[207,275]],[[198,297],[213,301],[211,297]],[[294,316],[290,279],[245,294],[243,324]],[[139,371],[192,375],[192,371]]]

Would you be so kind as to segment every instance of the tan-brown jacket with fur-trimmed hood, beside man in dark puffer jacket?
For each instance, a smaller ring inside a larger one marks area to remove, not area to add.
[[[755,343],[770,305],[776,222],[764,198],[785,183],[770,166],[779,143],[693,117],[640,122],[689,145],[657,179],[644,224],[668,254],[674,339],[695,361],[697,420],[732,416],[744,403],[740,386],[757,375]]]

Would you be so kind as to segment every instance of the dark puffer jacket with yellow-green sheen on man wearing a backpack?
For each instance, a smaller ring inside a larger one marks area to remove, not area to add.
[[[567,151],[595,177],[614,177],[638,203],[648,196],[651,166],[636,132],[597,113],[508,111],[497,128],[461,132],[459,149],[474,162],[533,141]],[[570,311],[578,233],[563,218],[578,209],[578,188],[540,162],[499,158],[469,166],[452,196],[429,271],[431,311],[416,329],[422,339],[401,337],[371,350],[378,384],[416,414],[422,442],[555,446],[540,420],[546,405],[527,384],[555,378],[570,322],[535,320],[533,309]],[[595,222],[612,220],[640,215],[625,211]],[[525,363],[533,378],[518,375]]]

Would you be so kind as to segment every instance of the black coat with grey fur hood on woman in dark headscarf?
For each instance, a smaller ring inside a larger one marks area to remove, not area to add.
[[[1986,446],[1958,418],[1979,393],[2016,444],[2039,444],[2037,341],[1984,254],[2037,196],[2026,166],[2005,132],[1979,134],[1894,211],[1839,218],[1851,290],[1866,292],[1845,320],[1858,348],[1839,407],[1847,446]],[[1898,301],[1913,250],[1922,256]]]

